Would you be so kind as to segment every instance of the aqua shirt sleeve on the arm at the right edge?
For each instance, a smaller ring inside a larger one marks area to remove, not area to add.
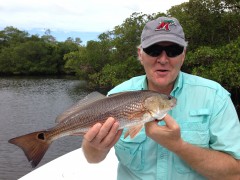
[[[240,123],[229,95],[215,97],[210,121],[210,148],[240,159]]]

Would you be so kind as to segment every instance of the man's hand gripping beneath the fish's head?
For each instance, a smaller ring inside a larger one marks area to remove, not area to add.
[[[146,134],[158,144],[176,152],[184,144],[181,138],[180,127],[170,115],[166,115],[163,121],[166,123],[165,126],[158,125],[158,121],[146,123]]]

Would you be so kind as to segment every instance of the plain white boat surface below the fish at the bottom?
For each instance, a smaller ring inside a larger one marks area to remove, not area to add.
[[[117,164],[114,148],[111,149],[106,159],[98,164],[89,164],[80,148],[35,169],[19,180],[77,180],[83,178],[113,180],[117,177]]]

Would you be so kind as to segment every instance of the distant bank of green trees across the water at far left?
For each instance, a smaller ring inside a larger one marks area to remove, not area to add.
[[[50,30],[42,38],[13,27],[0,31],[0,74],[64,74],[63,56],[78,50],[72,41],[57,43]]]

